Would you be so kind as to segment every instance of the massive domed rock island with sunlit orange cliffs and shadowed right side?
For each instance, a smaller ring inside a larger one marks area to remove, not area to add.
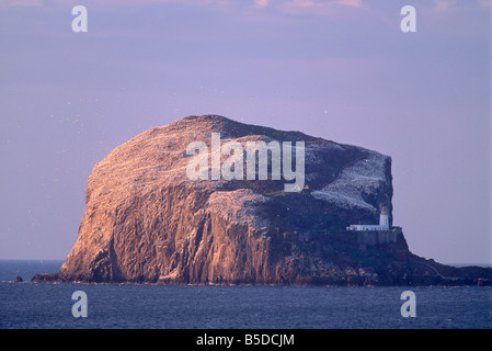
[[[305,141],[305,189],[284,192],[284,179],[190,180],[187,145],[210,147],[211,133],[220,133],[222,145],[236,140],[244,149],[248,141]],[[396,242],[370,247],[344,231],[350,224],[377,224],[382,206],[391,215],[391,197],[388,156],[299,132],[190,116],[138,135],[95,165],[67,261],[57,274],[33,280],[476,282],[474,271],[465,281],[458,271],[412,254],[401,230]],[[490,271],[479,271],[488,282]]]

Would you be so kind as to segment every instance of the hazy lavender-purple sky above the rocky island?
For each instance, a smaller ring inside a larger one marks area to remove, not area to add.
[[[88,10],[88,32],[71,24]],[[403,5],[416,32],[404,33]],[[393,224],[492,263],[488,0],[0,0],[0,259],[64,260],[87,179],[187,115],[392,158]]]

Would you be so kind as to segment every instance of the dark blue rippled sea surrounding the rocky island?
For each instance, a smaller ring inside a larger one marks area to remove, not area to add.
[[[0,328],[492,328],[492,287],[34,284],[60,261],[0,261]],[[10,281],[10,282],[9,282]],[[416,316],[402,317],[403,291]],[[72,293],[88,317],[72,316]]]

